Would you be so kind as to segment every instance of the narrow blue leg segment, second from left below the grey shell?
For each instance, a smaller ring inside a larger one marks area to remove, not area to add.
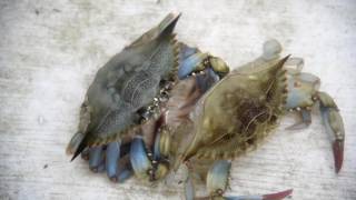
[[[118,160],[120,158],[120,142],[111,142],[107,147],[106,167],[110,180],[117,181]]]

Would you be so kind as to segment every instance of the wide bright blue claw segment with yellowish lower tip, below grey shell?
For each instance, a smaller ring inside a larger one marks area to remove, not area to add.
[[[147,157],[142,137],[135,137],[131,142],[130,162],[135,174],[141,179],[150,179],[154,171],[151,161]]]

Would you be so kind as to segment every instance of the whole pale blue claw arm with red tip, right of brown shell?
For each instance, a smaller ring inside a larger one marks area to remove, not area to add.
[[[288,78],[288,97],[286,109],[288,111],[298,112],[301,122],[293,124],[289,130],[298,130],[306,128],[312,123],[312,108],[319,103],[320,114],[326,128],[326,131],[333,138],[333,151],[335,171],[339,172],[343,166],[344,158],[344,140],[345,130],[339,110],[333,98],[319,91],[320,79],[314,74],[300,72],[304,61],[299,58],[294,58],[288,66],[295,63],[296,69],[287,68]]]

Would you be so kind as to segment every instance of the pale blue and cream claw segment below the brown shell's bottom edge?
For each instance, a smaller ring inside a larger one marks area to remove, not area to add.
[[[207,189],[210,196],[222,196],[228,184],[230,168],[231,162],[227,160],[218,160],[210,168],[207,176]]]

